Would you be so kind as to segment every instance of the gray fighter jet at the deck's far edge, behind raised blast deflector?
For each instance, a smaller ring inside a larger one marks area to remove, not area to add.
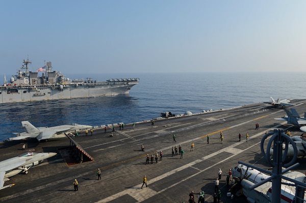
[[[10,140],[19,140],[24,138],[37,138],[38,141],[51,138],[61,138],[65,137],[65,132],[72,132],[77,130],[85,130],[90,129],[92,126],[87,125],[79,125],[79,124],[70,124],[70,125],[62,125],[62,126],[54,126],[54,127],[35,127],[29,121],[22,121],[22,127],[24,127],[24,131],[22,133],[18,133],[16,137],[11,137]]]

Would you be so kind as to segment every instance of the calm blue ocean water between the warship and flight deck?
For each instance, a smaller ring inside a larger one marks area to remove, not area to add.
[[[72,74],[66,77],[82,78]],[[98,81],[139,77],[129,95],[0,104],[0,141],[23,132],[21,121],[37,127],[79,123],[100,126],[232,108],[274,99],[305,99],[306,73],[149,73],[94,74]]]

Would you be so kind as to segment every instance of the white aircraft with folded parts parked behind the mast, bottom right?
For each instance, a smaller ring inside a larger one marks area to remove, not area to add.
[[[284,168],[285,169],[285,168]],[[261,202],[261,203],[270,203],[272,196],[272,183],[267,182],[254,190],[249,190],[250,186],[253,186],[256,183],[259,183],[265,179],[268,179],[270,176],[262,173],[261,171],[244,166],[239,164],[238,166],[232,169],[232,176],[235,180],[235,184],[231,187],[230,191],[234,194],[241,195],[247,197],[248,202]],[[304,182],[306,181],[306,177],[303,173],[298,171],[287,171],[283,174],[284,177],[291,178],[293,180]],[[294,187],[294,183],[283,180],[286,184],[282,184],[281,186],[281,203],[283,202],[295,202],[296,199],[296,188]],[[236,193],[237,191],[237,193]],[[304,201],[306,200],[306,196],[304,197]]]

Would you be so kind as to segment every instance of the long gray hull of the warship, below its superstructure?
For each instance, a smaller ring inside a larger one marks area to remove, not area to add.
[[[0,103],[60,100],[129,94],[139,81],[39,86],[2,86]]]

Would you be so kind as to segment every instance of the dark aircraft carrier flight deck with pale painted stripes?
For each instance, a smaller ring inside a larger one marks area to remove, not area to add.
[[[291,100],[300,115],[306,111],[305,100]],[[290,136],[300,136],[298,127],[274,118],[283,117],[284,109],[265,103],[245,105],[206,113],[126,124],[113,137],[111,128],[94,129],[93,135],[82,131],[70,138],[16,140],[0,143],[0,161],[24,152],[55,152],[56,156],[29,169],[28,174],[10,178],[10,188],[0,190],[1,202],[188,202],[189,193],[204,191],[205,202],[213,202],[214,183],[218,170],[223,171],[219,188],[221,202],[246,202],[245,197],[227,196],[228,169],[243,161],[269,168],[263,158],[260,142],[265,132],[289,130]],[[158,112],[157,112],[158,113]],[[255,124],[259,123],[259,129]],[[119,124],[119,123],[118,123]],[[223,143],[220,132],[223,133]],[[241,133],[241,141],[238,134]],[[246,141],[246,133],[249,139]],[[175,134],[175,141],[173,140]],[[209,143],[207,136],[209,137]],[[194,151],[191,144],[194,143]],[[22,150],[25,144],[26,149]],[[141,144],[144,151],[141,150]],[[172,156],[172,147],[181,144],[185,151]],[[146,156],[163,152],[162,160],[146,163]],[[82,163],[80,163],[82,162]],[[295,170],[305,172],[306,162],[298,158]],[[100,168],[101,180],[96,171]],[[143,187],[143,177],[147,186]],[[74,191],[73,181],[79,182]]]

